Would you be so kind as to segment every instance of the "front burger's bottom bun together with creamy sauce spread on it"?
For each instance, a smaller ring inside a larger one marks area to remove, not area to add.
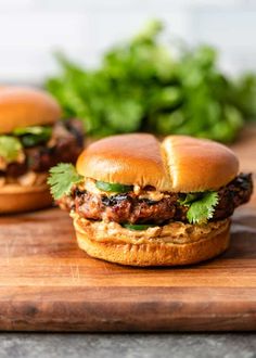
[[[108,223],[111,226],[112,223]],[[106,223],[107,226],[107,223]],[[74,227],[78,246],[88,255],[106,261],[129,266],[178,266],[200,263],[221,254],[229,245],[230,220],[209,222],[204,226],[191,226],[174,222],[161,232],[172,227],[169,236],[133,234],[135,231],[119,227],[119,236],[115,230],[111,235],[103,234],[95,222],[74,217]],[[194,227],[194,231],[193,231]],[[151,229],[148,229],[151,230]],[[145,230],[145,231],[148,231]],[[184,234],[185,232],[185,234]],[[191,238],[190,238],[191,233]],[[137,235],[137,238],[135,238]]]

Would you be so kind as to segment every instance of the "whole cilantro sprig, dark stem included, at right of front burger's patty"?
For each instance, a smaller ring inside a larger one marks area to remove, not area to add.
[[[179,200],[180,205],[189,206],[187,212],[189,222],[199,225],[213,218],[218,202],[218,193],[215,191],[189,193]]]

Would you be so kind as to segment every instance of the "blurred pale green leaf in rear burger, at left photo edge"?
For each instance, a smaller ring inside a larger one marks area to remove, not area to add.
[[[0,156],[8,163],[15,162],[22,151],[22,144],[18,139],[0,136]]]

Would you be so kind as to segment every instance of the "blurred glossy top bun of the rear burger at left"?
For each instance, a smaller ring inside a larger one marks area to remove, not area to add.
[[[0,135],[15,128],[51,125],[61,117],[61,107],[47,92],[28,87],[0,87]]]

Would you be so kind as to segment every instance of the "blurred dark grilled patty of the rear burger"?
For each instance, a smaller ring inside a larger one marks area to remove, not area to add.
[[[75,163],[82,150],[84,130],[80,120],[60,120],[52,128],[52,137],[47,144],[24,149],[24,163],[10,163],[7,171],[0,172],[8,177],[20,177],[28,170],[48,171],[57,163]]]

